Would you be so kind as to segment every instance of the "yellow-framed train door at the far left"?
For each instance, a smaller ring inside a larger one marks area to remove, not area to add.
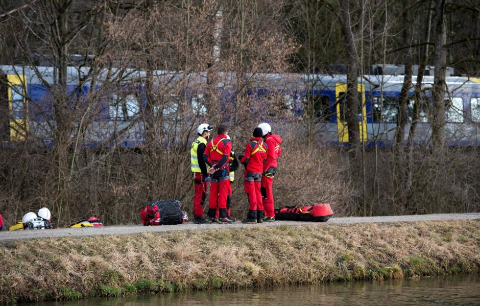
[[[23,75],[7,75],[10,140],[25,140],[29,129],[26,80]]]

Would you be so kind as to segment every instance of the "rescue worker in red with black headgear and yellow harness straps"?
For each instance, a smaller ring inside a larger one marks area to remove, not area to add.
[[[261,138],[261,128],[253,130],[253,138],[250,139],[245,147],[245,155],[238,158],[244,164],[245,170],[245,193],[247,194],[249,208],[247,218],[242,223],[262,223],[263,205],[261,200],[261,175],[263,172],[263,163],[267,159],[268,146]]]

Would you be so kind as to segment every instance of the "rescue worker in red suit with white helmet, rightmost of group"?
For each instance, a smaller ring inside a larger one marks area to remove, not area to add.
[[[267,161],[263,164],[263,176],[261,177],[261,193],[263,200],[263,209],[265,210],[264,222],[275,221],[274,205],[273,205],[273,177],[277,172],[277,159],[282,154],[280,145],[282,139],[280,136],[272,134],[272,128],[268,123],[258,125],[262,129],[262,137],[267,143]]]

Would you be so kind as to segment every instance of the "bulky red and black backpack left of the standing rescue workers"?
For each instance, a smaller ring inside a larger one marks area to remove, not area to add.
[[[161,200],[140,209],[143,225],[174,225],[188,220],[186,213],[180,210],[182,202],[175,199]]]

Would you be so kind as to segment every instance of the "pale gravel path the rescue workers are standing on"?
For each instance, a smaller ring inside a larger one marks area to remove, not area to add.
[[[480,213],[475,214],[437,214],[437,215],[413,215],[413,216],[387,216],[387,217],[345,217],[331,218],[325,223],[296,222],[296,221],[275,221],[262,224],[242,224],[236,221],[232,224],[194,224],[187,222],[179,225],[164,226],[142,226],[142,225],[122,225],[122,226],[102,226],[102,227],[84,227],[84,228],[57,228],[48,230],[21,230],[21,231],[2,231],[0,232],[0,241],[44,238],[44,237],[75,237],[75,236],[95,236],[111,234],[134,234],[142,232],[163,232],[176,230],[196,230],[208,228],[232,228],[232,227],[254,227],[254,226],[277,226],[277,225],[313,225],[313,224],[349,224],[349,223],[378,223],[378,222],[411,222],[411,221],[432,221],[432,220],[473,220],[480,219]]]

